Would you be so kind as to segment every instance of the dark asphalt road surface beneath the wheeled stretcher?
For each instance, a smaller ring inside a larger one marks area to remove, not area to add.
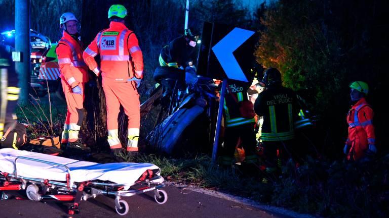
[[[116,213],[113,199],[98,196],[86,202],[82,201],[79,207],[80,214],[73,217],[286,217],[175,186],[167,186],[165,190],[168,193],[168,201],[162,205],[154,201],[151,194],[153,192],[124,198],[130,206],[130,211],[125,216]],[[0,201],[0,217],[69,217],[67,206],[66,203],[44,203],[11,198]]]

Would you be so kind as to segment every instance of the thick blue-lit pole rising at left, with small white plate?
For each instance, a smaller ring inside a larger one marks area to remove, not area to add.
[[[26,104],[30,89],[30,0],[15,0],[15,51],[20,61],[15,63],[19,77],[19,103]]]

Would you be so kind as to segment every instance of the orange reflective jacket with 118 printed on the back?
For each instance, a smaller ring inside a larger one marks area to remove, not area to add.
[[[98,54],[103,78],[118,82],[127,82],[134,76],[143,78],[143,56],[138,39],[124,24],[112,21],[84,51],[85,63],[96,74],[99,68],[94,57]]]

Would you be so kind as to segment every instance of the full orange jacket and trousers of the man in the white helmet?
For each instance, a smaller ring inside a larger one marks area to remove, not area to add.
[[[88,82],[88,67],[83,59],[83,46],[80,40],[63,31],[55,49],[61,72],[61,82],[67,103],[67,114],[62,132],[62,143],[74,142],[79,138],[83,122],[84,84]],[[72,88],[79,86],[83,94],[75,94]]]

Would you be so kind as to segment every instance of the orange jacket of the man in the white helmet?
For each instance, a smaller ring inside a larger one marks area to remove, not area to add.
[[[80,83],[86,83],[89,79],[88,67],[83,59],[83,51],[81,41],[63,31],[63,36],[58,41],[55,52],[58,56],[61,78],[67,81],[71,88]]]

